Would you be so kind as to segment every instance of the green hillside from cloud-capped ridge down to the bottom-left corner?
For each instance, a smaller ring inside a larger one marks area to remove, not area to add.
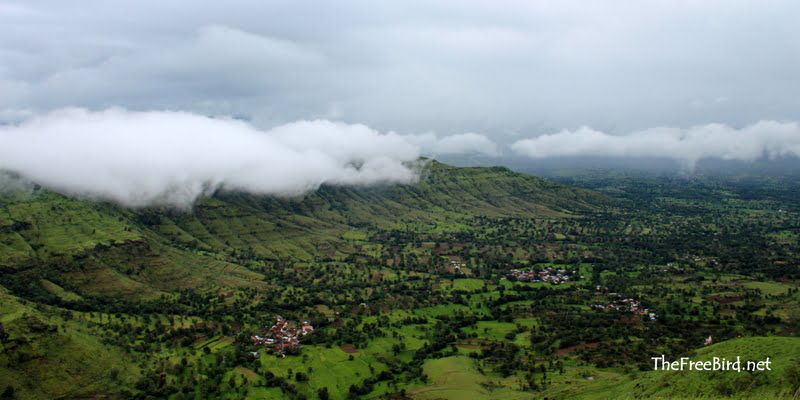
[[[101,340],[103,329],[119,323],[146,335],[141,307],[187,291],[225,299],[270,290],[247,259],[342,259],[377,228],[460,230],[475,216],[571,218],[609,204],[505,168],[435,161],[412,185],[326,186],[292,199],[221,192],[191,210],[132,210],[42,189],[5,195],[0,389],[13,385],[21,398],[127,397],[157,358],[140,358],[141,339],[125,343],[134,337],[125,332]]]

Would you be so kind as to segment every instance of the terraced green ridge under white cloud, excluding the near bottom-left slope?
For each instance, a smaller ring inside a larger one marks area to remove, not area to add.
[[[0,270],[46,267],[52,280],[43,288],[59,297],[70,296],[56,289],[66,285],[147,299],[179,289],[263,285],[259,274],[218,254],[341,257],[356,251],[351,238],[372,228],[447,227],[481,215],[571,218],[610,204],[595,192],[504,167],[436,161],[415,184],[324,186],[295,199],[221,192],[190,211],[132,210],[38,190],[0,198]]]

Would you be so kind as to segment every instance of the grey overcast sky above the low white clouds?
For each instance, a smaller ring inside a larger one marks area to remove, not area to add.
[[[497,138],[798,120],[799,18],[769,0],[3,0],[0,109]]]

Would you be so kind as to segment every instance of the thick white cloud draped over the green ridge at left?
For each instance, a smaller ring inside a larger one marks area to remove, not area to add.
[[[0,170],[68,195],[185,207],[220,188],[294,196],[322,184],[411,183],[426,146],[474,149],[458,135],[427,138],[327,120],[263,131],[186,112],[62,109],[0,127]]]

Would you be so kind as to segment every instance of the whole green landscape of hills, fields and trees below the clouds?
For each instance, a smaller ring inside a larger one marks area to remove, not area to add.
[[[226,192],[192,210],[2,197],[0,390],[792,398],[799,181],[560,179],[588,189],[432,162],[414,185]],[[315,328],[285,358],[251,339],[276,314]],[[661,355],[774,368],[653,371]]]

